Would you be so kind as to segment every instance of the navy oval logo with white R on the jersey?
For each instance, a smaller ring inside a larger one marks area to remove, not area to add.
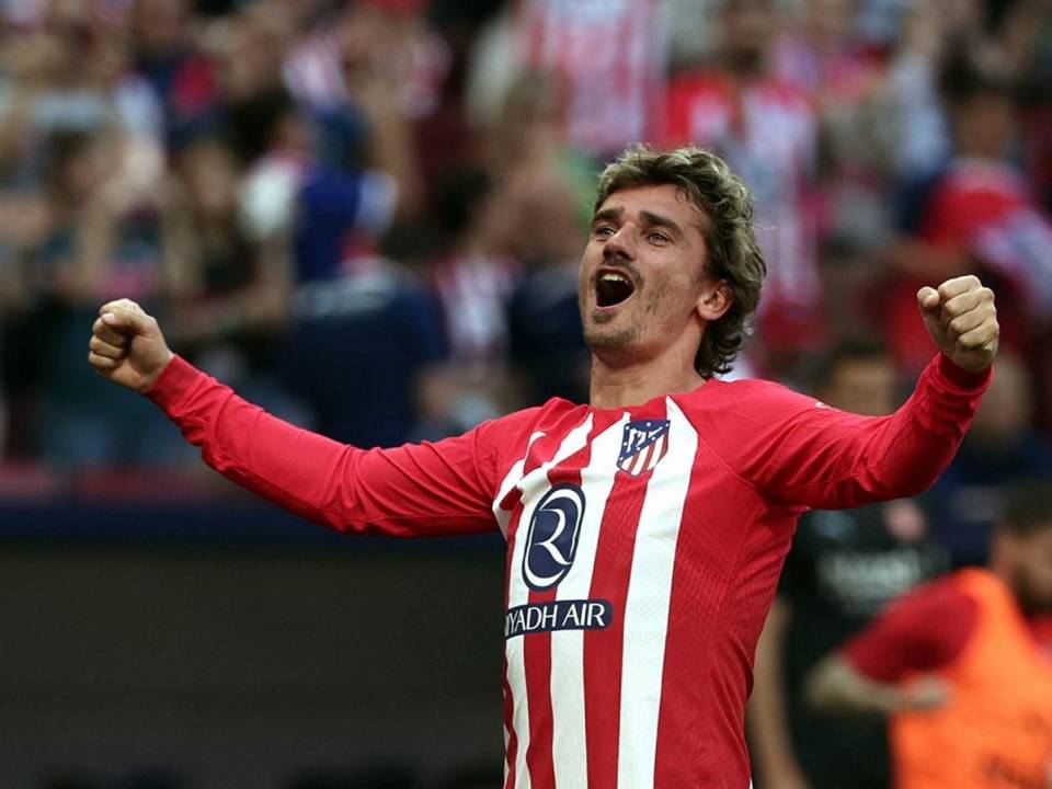
[[[584,491],[575,484],[556,485],[537,504],[523,553],[523,576],[530,588],[549,590],[570,572],[583,517]]]

